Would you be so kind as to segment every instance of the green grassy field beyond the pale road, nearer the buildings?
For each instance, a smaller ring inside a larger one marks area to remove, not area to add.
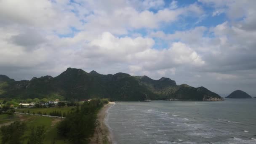
[[[50,112],[53,111],[61,111],[61,113],[63,114],[63,112],[71,112],[72,109],[75,109],[75,107],[51,107],[51,108],[25,108],[25,109],[15,109],[15,112],[23,112],[27,113],[27,111],[29,110],[30,114],[33,114],[33,112],[35,112],[35,114],[37,114],[37,112],[46,112],[47,115],[50,114]]]

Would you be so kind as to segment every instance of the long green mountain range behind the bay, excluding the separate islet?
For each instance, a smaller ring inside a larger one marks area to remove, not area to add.
[[[182,84],[162,77],[153,80],[147,76],[126,73],[101,75],[96,71],[68,68],[57,77],[33,77],[16,81],[0,75],[0,98],[27,99],[61,97],[62,99],[109,98],[113,101],[195,100],[221,101],[221,96],[207,88]]]

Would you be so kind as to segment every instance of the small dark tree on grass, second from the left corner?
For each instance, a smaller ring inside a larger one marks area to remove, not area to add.
[[[36,128],[31,128],[31,133],[27,144],[43,144],[43,139],[45,138],[45,126],[37,126]]]

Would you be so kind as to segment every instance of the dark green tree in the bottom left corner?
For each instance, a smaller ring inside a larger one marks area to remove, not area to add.
[[[26,125],[20,121],[16,121],[11,125],[2,126],[2,144],[21,144]]]

